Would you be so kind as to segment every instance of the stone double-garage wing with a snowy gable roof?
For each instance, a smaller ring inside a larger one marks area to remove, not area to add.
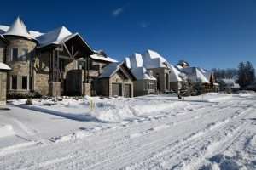
[[[102,74],[93,81],[96,95],[133,97],[133,81],[136,77],[124,62],[106,65]]]

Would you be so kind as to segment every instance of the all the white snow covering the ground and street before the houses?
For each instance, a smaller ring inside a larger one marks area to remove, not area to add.
[[[16,100],[0,110],[13,132],[0,138],[0,169],[255,169],[255,101],[253,93]]]

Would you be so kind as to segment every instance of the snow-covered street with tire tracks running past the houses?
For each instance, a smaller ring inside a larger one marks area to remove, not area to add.
[[[149,98],[138,98],[135,103],[143,108],[139,101]],[[157,101],[157,108],[171,98],[150,99]],[[57,136],[58,128],[73,132],[60,138],[51,138],[47,127],[27,122],[23,128],[31,132],[24,134],[28,142],[0,149],[0,169],[255,169],[256,95],[234,94],[214,102],[192,100],[161,111],[150,108],[151,112],[121,122],[56,119],[50,122],[55,122],[51,134]],[[134,102],[133,106],[137,108]],[[37,114],[42,125],[47,125],[49,115]],[[71,127],[65,128],[68,123]],[[45,131],[43,137],[32,128]]]

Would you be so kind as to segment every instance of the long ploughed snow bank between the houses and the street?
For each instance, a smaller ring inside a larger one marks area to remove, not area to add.
[[[90,122],[121,122],[161,111],[172,111],[189,105],[187,102],[165,101],[157,99],[34,99],[33,105],[25,105],[26,100],[14,100],[13,104],[21,108],[62,116],[78,121]],[[92,103],[91,103],[92,102]]]

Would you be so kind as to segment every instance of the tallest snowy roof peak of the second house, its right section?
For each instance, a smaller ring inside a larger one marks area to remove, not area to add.
[[[169,62],[162,57],[160,54],[153,50],[147,50],[143,54],[143,66],[147,69],[160,68],[160,67],[169,67]]]

